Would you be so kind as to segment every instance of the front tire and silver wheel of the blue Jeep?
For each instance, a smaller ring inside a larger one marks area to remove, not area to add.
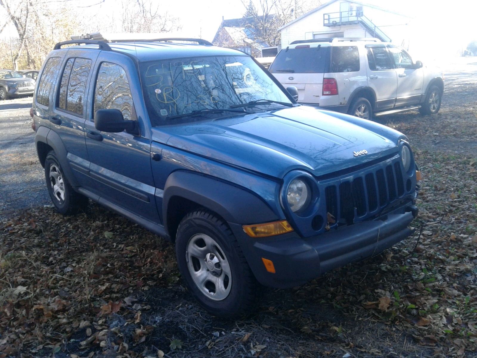
[[[197,210],[182,219],[176,256],[189,292],[211,315],[235,319],[254,311],[262,287],[235,236],[213,213]]]

